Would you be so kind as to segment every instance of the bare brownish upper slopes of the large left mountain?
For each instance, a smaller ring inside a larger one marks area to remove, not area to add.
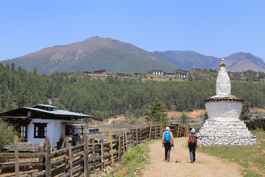
[[[67,44],[62,46],[48,47],[40,51],[24,55],[22,57],[14,58],[8,61],[7,60],[3,61],[3,64],[6,64],[7,62],[9,63],[15,62],[17,66],[21,66],[25,68],[27,71],[33,71],[33,68],[36,67],[38,69],[39,74],[43,73],[51,74],[53,71],[61,71],[68,65],[80,61],[86,55],[100,48],[111,48],[111,49],[122,50],[127,53],[132,53],[141,57],[145,57],[150,61],[154,60],[157,61],[158,63],[162,63],[161,66],[157,64],[157,69],[164,67],[164,65],[169,66],[170,68],[176,68],[167,59],[159,55],[156,55],[152,52],[145,51],[132,44],[121,42],[119,40],[111,38],[102,38],[102,37],[90,38],[82,42],[75,42],[72,44]],[[93,61],[93,59],[91,61]],[[95,66],[96,64],[93,63],[92,65]],[[77,65],[75,65],[74,67],[77,68],[76,66]],[[90,66],[88,67],[91,69]],[[138,67],[137,63],[134,67],[135,68]],[[68,68],[69,70],[64,69],[64,71],[73,70],[70,66]],[[107,69],[107,71],[110,70]]]

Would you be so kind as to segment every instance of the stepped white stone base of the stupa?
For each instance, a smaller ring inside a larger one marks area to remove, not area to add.
[[[253,145],[256,136],[240,119],[209,119],[197,133],[201,145]]]

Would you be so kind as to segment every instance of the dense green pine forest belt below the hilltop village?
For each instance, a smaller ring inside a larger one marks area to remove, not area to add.
[[[15,63],[0,64],[0,112],[36,103],[85,113],[101,119],[116,113],[139,116],[159,98],[168,110],[205,109],[204,99],[215,95],[215,79],[193,81],[133,81],[109,75],[105,80],[91,79],[82,72],[53,72],[38,75]],[[265,105],[264,83],[231,82],[233,95],[250,102],[251,107]]]

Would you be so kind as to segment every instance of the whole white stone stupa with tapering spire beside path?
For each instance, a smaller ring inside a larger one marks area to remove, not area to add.
[[[222,59],[216,80],[216,95],[204,100],[208,113],[198,133],[202,145],[252,145],[256,136],[239,119],[244,100],[231,95],[231,83]]]

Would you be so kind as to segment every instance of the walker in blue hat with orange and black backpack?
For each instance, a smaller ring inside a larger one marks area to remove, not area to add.
[[[191,129],[191,133],[188,135],[187,141],[189,142],[188,143],[189,156],[191,158],[191,163],[193,163],[193,162],[195,162],[195,150],[197,147],[197,143],[198,143],[198,145],[200,145],[200,149],[201,149],[201,144],[198,140],[198,137],[197,137],[197,134],[196,134],[196,131],[194,128]]]

